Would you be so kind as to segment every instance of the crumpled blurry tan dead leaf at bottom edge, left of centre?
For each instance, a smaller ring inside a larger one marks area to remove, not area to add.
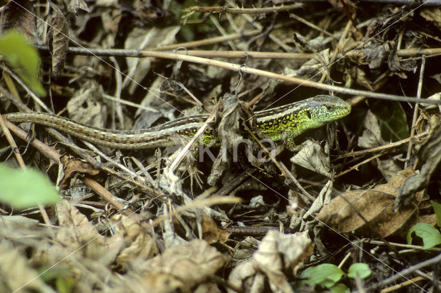
[[[188,290],[225,265],[226,259],[207,241],[194,239],[167,248],[142,265],[143,283],[150,292]]]

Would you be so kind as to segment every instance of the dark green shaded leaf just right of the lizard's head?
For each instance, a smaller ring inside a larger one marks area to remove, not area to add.
[[[385,141],[396,142],[409,138],[406,113],[399,102],[373,101],[370,109],[378,119],[381,136]]]

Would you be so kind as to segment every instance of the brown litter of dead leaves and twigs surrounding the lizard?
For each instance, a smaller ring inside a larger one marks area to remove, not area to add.
[[[287,1],[243,2],[240,8],[229,1],[214,8],[176,1],[3,6],[0,30],[22,32],[39,48],[42,66],[32,78],[42,80],[50,100],[37,100],[32,87],[17,83],[23,77],[14,75],[17,67],[6,58],[2,113],[45,105],[97,127],[136,129],[215,112],[208,129],[221,125],[220,136],[229,144],[214,154],[207,151],[201,162],[200,150],[190,149],[174,168],[180,149],[85,150],[75,138],[49,130],[52,138],[36,127],[32,146],[23,151],[26,144],[20,144],[19,150],[26,164],[63,189],[63,199],[45,208],[1,205],[1,290],[294,292],[293,282],[306,267],[342,261],[344,271],[361,262],[379,272],[351,287],[369,291],[405,281],[387,283],[387,276],[436,257],[440,250],[421,252],[422,246],[411,254],[400,254],[397,246],[389,255],[392,242],[363,243],[356,250],[345,245],[356,246],[362,237],[404,243],[411,226],[435,226],[428,199],[440,198],[439,107],[413,111],[413,103],[334,93],[351,103],[351,114],[296,138],[301,151],[263,152],[267,161],[261,164],[253,143],[240,146],[234,160],[231,145],[254,127],[250,105],[257,111],[324,93],[225,67],[129,52],[199,54],[398,96],[416,96],[420,83],[422,98],[439,100],[440,8],[345,3],[345,8]],[[112,50],[117,48],[123,49]],[[234,52],[242,53],[232,57]],[[217,53],[224,55],[214,57]],[[289,56],[280,58],[283,54]],[[224,103],[225,94],[232,100]],[[411,133],[419,139],[407,140]],[[3,162],[17,165],[8,152],[1,153]],[[52,168],[54,162],[59,169]],[[339,236],[329,236],[331,231]],[[349,253],[352,260],[345,257]]]

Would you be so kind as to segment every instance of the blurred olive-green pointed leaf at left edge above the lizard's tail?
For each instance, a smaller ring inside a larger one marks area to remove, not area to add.
[[[39,80],[39,54],[23,34],[12,30],[0,36],[0,55],[35,94],[46,95]]]

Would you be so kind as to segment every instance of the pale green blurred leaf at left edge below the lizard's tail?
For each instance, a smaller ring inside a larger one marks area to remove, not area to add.
[[[39,171],[16,170],[0,164],[0,202],[22,209],[58,201],[54,186]]]

